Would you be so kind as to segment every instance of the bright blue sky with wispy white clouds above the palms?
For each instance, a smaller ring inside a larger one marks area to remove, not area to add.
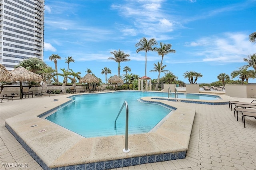
[[[45,0],[44,17],[44,61],[55,69],[49,56],[60,55],[61,72],[67,69],[65,57],[72,56],[73,71],[83,77],[90,69],[103,82],[104,67],[112,71],[108,77],[118,74],[118,63],[108,60],[118,49],[131,59],[120,63],[120,75],[128,66],[128,73],[144,76],[145,52],[136,53],[135,47],[142,37],[172,45],[176,53],[165,55],[163,64],[185,83],[186,71],[201,73],[198,83],[218,81],[220,73],[230,75],[256,53],[248,38],[256,32],[255,0]],[[158,77],[150,72],[158,61],[156,52],[147,53],[151,79]]]

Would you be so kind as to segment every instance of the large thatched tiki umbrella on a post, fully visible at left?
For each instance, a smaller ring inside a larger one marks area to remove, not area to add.
[[[20,82],[20,98],[22,99],[22,82],[23,81],[36,81],[41,82],[42,76],[31,71],[28,71],[24,67],[20,66],[12,71],[12,81]]]

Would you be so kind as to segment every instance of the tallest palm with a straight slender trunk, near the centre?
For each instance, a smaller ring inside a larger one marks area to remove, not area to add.
[[[135,47],[138,47],[136,50],[136,53],[140,51],[145,51],[145,76],[147,76],[147,52],[148,51],[154,51],[153,47],[154,45],[157,45],[157,42],[154,38],[151,38],[149,41],[143,37],[140,39],[140,42],[135,44]]]

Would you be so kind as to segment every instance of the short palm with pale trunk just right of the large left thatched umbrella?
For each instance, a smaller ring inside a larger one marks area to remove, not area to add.
[[[38,73],[42,76],[43,78],[43,85],[42,85],[42,90],[41,93],[44,93],[47,91],[47,82],[54,78],[54,73],[56,70],[52,69],[52,67],[44,67]]]

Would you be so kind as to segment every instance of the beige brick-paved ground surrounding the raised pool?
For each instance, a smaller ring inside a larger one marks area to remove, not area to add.
[[[4,119],[24,113],[31,108],[53,102],[51,97],[14,99],[0,103],[0,169],[41,170],[41,166],[24,150],[4,126]],[[236,98],[251,102],[252,99]],[[241,116],[234,118],[228,105],[200,105],[196,108],[186,159],[117,168],[116,170],[255,170],[256,120],[246,117],[246,128]]]

